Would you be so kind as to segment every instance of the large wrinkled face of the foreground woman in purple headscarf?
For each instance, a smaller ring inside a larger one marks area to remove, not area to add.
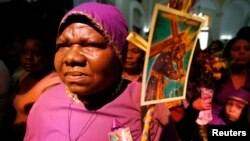
[[[56,45],[55,69],[72,93],[95,94],[117,79],[119,61],[105,38],[91,26],[70,24]]]

